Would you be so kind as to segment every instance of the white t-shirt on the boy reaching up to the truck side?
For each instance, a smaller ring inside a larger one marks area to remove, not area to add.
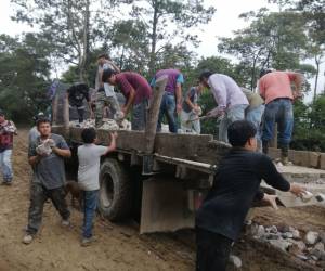
[[[107,152],[107,146],[84,144],[78,147],[78,182],[80,189],[93,191],[100,189],[101,156]]]

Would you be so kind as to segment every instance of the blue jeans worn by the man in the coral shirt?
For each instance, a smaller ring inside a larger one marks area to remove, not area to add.
[[[266,104],[262,129],[263,141],[270,141],[273,138],[275,122],[277,122],[278,143],[282,146],[289,145],[294,129],[294,111],[290,99],[276,99]]]

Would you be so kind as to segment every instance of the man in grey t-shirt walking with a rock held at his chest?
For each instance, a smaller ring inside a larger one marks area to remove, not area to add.
[[[43,214],[43,205],[50,198],[62,217],[62,225],[69,225],[70,212],[65,202],[65,170],[64,158],[72,153],[63,137],[51,133],[49,119],[42,118],[37,122],[40,137],[31,142],[28,150],[28,162],[32,166],[30,188],[30,206],[28,225],[24,244],[30,244],[38,232]]]

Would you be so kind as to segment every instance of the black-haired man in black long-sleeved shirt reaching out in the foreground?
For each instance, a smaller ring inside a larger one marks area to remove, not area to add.
[[[304,192],[286,181],[266,155],[256,152],[256,133],[247,120],[235,121],[227,129],[233,149],[220,163],[213,185],[196,215],[196,270],[225,270],[232,243],[253,199],[272,202],[260,191],[262,179],[297,196]]]

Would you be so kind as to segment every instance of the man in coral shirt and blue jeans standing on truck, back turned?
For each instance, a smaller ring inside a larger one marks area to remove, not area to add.
[[[295,85],[295,91],[291,90]],[[292,72],[263,69],[260,74],[259,91],[265,100],[264,121],[262,129],[263,152],[268,153],[269,141],[273,138],[274,124],[278,126],[281,159],[288,164],[288,150],[294,128],[292,102],[301,96],[302,76]]]

